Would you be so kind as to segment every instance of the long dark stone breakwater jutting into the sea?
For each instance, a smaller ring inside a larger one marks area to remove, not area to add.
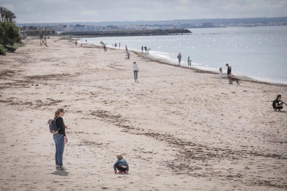
[[[165,30],[132,30],[132,31],[92,31],[92,32],[65,32],[61,35],[70,36],[153,36],[153,35],[173,35],[173,34],[189,34],[191,31],[187,29],[165,29]]]

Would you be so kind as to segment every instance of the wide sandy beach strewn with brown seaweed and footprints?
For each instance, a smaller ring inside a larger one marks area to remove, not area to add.
[[[286,190],[287,86],[51,37],[0,56],[0,190]],[[133,61],[139,66],[134,82]],[[68,143],[55,168],[47,121]],[[114,174],[117,153],[129,174]]]

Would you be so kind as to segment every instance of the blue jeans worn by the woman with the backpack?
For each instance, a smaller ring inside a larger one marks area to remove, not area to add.
[[[56,165],[63,166],[63,152],[65,148],[65,137],[62,134],[53,135],[55,141],[56,153],[55,161]]]

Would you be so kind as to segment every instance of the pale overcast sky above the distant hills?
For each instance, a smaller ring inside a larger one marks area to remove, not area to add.
[[[286,17],[287,0],[1,0],[17,23]]]

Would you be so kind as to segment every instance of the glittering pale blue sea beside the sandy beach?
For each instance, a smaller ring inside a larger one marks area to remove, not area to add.
[[[189,30],[192,34],[97,37],[87,40],[89,44],[97,45],[103,41],[108,47],[117,43],[117,48],[121,43],[121,49],[127,45],[129,50],[140,52],[141,46],[147,46],[148,49],[151,48],[150,55],[173,64],[178,64],[177,55],[180,52],[181,65],[187,66],[189,56],[191,66],[195,68],[218,71],[222,67],[223,72],[227,72],[225,64],[228,63],[235,76],[287,84],[287,26]],[[131,60],[139,61],[133,57]]]

